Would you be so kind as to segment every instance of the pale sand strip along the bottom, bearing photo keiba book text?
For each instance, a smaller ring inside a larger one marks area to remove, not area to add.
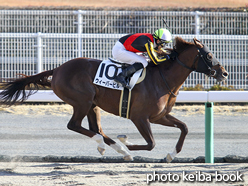
[[[189,177],[192,175],[191,177]],[[201,175],[201,176],[200,176]],[[167,177],[166,177],[167,176]],[[154,180],[159,181],[154,181]],[[226,181],[223,181],[223,179]],[[248,185],[248,164],[0,163],[1,186]],[[167,180],[167,181],[166,181]],[[178,181],[177,181],[178,180]],[[205,181],[203,181],[205,180]],[[220,181],[222,180],[222,181]],[[235,182],[237,181],[237,182]]]

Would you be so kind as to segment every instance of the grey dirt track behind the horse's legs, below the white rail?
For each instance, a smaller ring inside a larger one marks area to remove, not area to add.
[[[214,106],[215,156],[248,156],[248,106]],[[172,114],[188,125],[189,134],[183,151],[177,156],[196,158],[204,156],[204,105],[176,106]],[[96,143],[67,129],[72,116],[69,105],[26,105],[0,110],[0,155],[60,155],[99,156]],[[102,113],[105,134],[116,139],[117,135],[128,135],[131,142],[145,141],[134,124],[105,112]],[[82,126],[88,128],[87,119]],[[175,128],[152,125],[156,146],[152,151],[133,151],[133,156],[164,158],[177,142],[180,131]],[[117,140],[118,141],[118,140]],[[106,156],[119,156],[107,146]]]

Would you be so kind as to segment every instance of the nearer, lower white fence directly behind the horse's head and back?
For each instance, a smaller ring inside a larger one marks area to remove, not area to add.
[[[0,33],[0,78],[32,75],[60,66],[78,56],[107,59],[116,40],[123,34],[50,34]],[[194,37],[206,44],[229,72],[222,86],[248,89],[248,36],[239,35],[174,35],[187,41]],[[170,46],[172,47],[172,45]],[[210,88],[215,80],[191,73],[183,87],[200,84]]]

